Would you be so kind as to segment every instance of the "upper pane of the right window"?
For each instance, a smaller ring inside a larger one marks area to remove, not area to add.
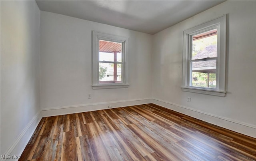
[[[217,29],[192,38],[192,60],[217,57]]]

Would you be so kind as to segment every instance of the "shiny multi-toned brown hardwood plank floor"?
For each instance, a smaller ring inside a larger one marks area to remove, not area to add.
[[[154,104],[44,117],[21,161],[256,160],[256,139]]]

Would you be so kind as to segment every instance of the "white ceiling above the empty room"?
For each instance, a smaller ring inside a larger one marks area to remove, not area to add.
[[[40,10],[155,34],[223,0],[37,0]]]

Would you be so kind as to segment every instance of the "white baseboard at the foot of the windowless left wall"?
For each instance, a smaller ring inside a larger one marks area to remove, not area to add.
[[[18,138],[14,141],[11,147],[4,154],[5,157],[9,156],[11,158],[1,159],[1,161],[5,161],[5,160],[17,161],[18,160],[18,158],[15,158],[15,157],[18,157],[22,154],[22,152],[24,151],[26,145],[28,144],[28,141],[32,137],[41,119],[42,119],[42,114],[41,114],[41,111],[39,111],[38,113],[36,113],[33,119],[28,123],[28,125],[26,125],[26,127],[18,136]]]

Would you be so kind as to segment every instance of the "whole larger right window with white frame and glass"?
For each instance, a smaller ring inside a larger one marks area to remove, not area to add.
[[[183,91],[224,97],[225,65],[225,15],[183,32]]]

